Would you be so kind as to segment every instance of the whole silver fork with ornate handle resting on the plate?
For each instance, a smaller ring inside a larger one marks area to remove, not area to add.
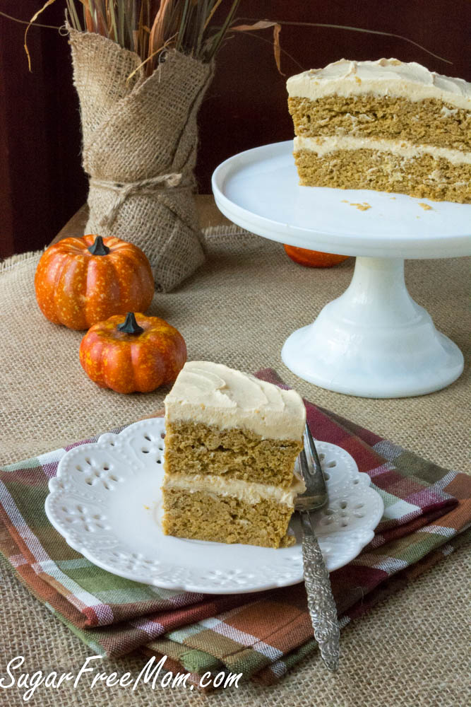
[[[322,659],[329,670],[337,670],[340,652],[337,607],[311,517],[312,511],[326,505],[328,497],[321,462],[307,423],[304,431],[304,450],[298,458],[306,491],[297,497],[294,509],[301,515],[307,606]]]

